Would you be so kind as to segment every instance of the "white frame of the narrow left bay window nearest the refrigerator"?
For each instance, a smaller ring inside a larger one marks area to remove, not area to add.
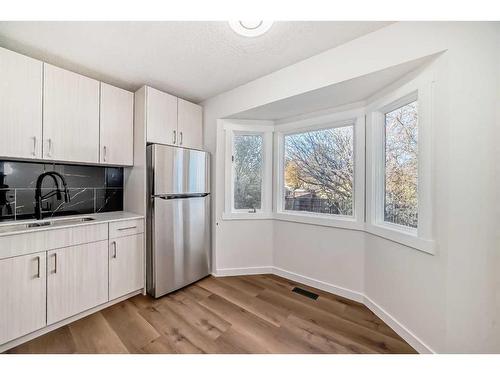
[[[225,204],[223,219],[264,219],[272,218],[272,121],[227,120],[224,121],[225,132]],[[249,209],[234,208],[234,137],[235,135],[262,136],[262,183],[261,207],[255,212]]]

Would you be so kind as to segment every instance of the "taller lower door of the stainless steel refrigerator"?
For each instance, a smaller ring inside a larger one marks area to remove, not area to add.
[[[210,273],[210,196],[154,198],[152,285],[159,297]]]

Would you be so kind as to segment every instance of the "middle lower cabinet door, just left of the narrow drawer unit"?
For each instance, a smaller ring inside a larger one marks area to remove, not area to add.
[[[47,252],[47,324],[108,301],[108,241]]]

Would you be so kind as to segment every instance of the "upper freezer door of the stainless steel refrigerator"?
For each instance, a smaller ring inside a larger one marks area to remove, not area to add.
[[[210,154],[186,148],[151,145],[153,194],[209,193]]]

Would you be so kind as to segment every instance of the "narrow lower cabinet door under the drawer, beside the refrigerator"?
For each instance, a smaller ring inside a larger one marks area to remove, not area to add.
[[[144,235],[109,241],[109,299],[144,288]]]

